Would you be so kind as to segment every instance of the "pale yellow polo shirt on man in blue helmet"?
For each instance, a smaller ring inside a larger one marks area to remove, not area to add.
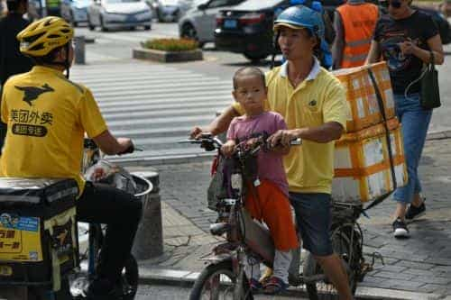
[[[288,79],[288,63],[273,68],[266,74],[268,86],[267,108],[283,116],[289,129],[317,127],[328,122],[346,126],[348,107],[345,90],[338,79],[318,59],[308,77],[296,88]],[[244,114],[234,103],[235,110]],[[283,159],[290,192],[331,193],[334,177],[335,142],[302,141],[302,146],[291,147]]]

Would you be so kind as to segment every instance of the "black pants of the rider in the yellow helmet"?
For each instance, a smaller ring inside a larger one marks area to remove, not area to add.
[[[132,250],[142,206],[133,195],[112,186],[90,182],[77,200],[78,221],[107,225],[97,272],[99,277],[113,284],[121,277],[125,260]]]

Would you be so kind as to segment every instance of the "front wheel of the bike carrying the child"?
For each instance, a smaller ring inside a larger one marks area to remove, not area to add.
[[[217,277],[216,277],[217,276]],[[215,277],[215,278],[213,278]],[[221,280],[226,281],[224,277],[228,277],[231,281],[231,285],[227,285],[226,282],[221,284]],[[209,281],[208,279],[211,280]],[[214,281],[214,282],[212,282]],[[232,267],[232,261],[223,260],[219,263],[210,264],[207,268],[204,268],[200,273],[198,279],[194,283],[194,286],[189,293],[189,300],[200,300],[202,299],[203,292],[206,291],[208,287],[212,285],[216,286],[214,289],[210,290],[210,293],[224,293],[224,297],[220,299],[233,299],[234,298],[234,286],[235,286],[235,273]],[[247,280],[245,280],[247,281]],[[222,291],[221,291],[222,289]],[[242,300],[253,300],[252,292],[249,288],[249,285],[244,284],[243,286],[244,295],[241,295],[240,299]],[[226,297],[230,295],[230,297]]]

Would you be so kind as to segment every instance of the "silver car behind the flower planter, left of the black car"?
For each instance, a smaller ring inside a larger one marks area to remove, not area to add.
[[[251,0],[260,1],[260,0]],[[216,14],[221,9],[229,9],[243,3],[244,0],[209,0],[197,2],[179,20],[179,35],[198,41],[202,46],[215,40]]]

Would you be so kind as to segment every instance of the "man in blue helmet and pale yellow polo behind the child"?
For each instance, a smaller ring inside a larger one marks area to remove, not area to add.
[[[302,245],[309,250],[336,286],[340,299],[353,298],[345,269],[330,241],[330,193],[334,175],[334,140],[345,131],[345,91],[338,79],[321,68],[314,51],[323,39],[318,13],[305,6],[291,6],[274,23],[281,52],[287,61],[266,75],[268,109],[281,114],[289,130],[276,132],[272,144],[290,144],[301,138],[283,160],[290,201],[296,213]],[[234,103],[206,128],[191,135],[226,131],[231,120],[243,114]]]

